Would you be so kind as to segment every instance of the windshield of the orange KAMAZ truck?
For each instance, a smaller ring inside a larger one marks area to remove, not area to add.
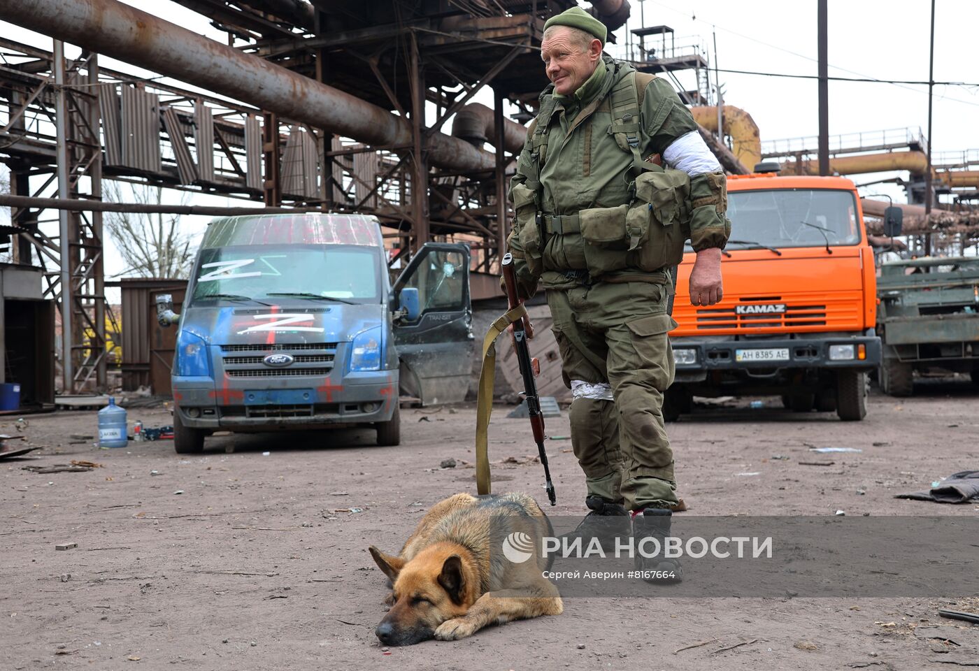
[[[772,247],[857,245],[857,201],[849,191],[732,191],[731,238]],[[733,241],[732,248],[743,247]]]

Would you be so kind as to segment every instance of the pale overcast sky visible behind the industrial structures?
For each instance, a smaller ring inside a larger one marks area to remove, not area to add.
[[[226,34],[209,21],[168,0],[122,0],[166,21],[198,31],[221,42]],[[629,24],[616,31],[620,44],[626,29],[666,24],[674,28],[676,45],[700,43],[712,66],[778,74],[815,75],[816,0],[630,0]],[[589,5],[582,3],[584,7]],[[873,79],[927,81],[930,0],[829,0],[829,75]],[[964,86],[934,88],[932,147],[935,153],[979,148],[979,70],[974,67],[975,26],[979,2],[937,0],[935,14],[934,80],[963,82]],[[51,40],[0,22],[11,39],[50,49]],[[717,40],[715,58],[714,40]],[[613,47],[614,49],[614,47]],[[76,51],[69,49],[69,56]],[[154,73],[102,59],[104,67],[153,76]],[[720,72],[724,102],[749,112],[758,124],[763,143],[768,140],[816,136],[817,82],[815,79]],[[692,79],[681,79],[688,84]],[[180,82],[172,82],[193,89]],[[875,82],[829,82],[830,135],[920,128],[928,125],[926,85]],[[492,105],[489,91],[477,102]],[[855,175],[858,184],[900,173]],[[902,175],[907,177],[907,173]],[[896,185],[873,185],[863,195],[884,193],[906,201]],[[174,194],[171,201],[178,201]],[[195,204],[246,205],[238,201],[197,196]],[[4,210],[0,218],[9,218]],[[207,217],[185,217],[188,231],[204,230]],[[121,270],[116,249],[107,246],[106,274]]]

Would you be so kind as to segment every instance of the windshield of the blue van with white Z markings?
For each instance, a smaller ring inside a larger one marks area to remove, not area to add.
[[[366,246],[228,246],[201,250],[194,301],[310,297],[380,302],[380,257]]]

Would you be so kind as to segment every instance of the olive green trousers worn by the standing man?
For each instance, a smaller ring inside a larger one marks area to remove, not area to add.
[[[577,394],[571,404],[572,447],[587,495],[629,511],[677,501],[663,421],[663,392],[675,373],[667,291],[643,282],[547,291],[565,384],[610,384],[614,397]]]

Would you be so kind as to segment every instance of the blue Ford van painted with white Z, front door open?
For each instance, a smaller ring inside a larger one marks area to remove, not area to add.
[[[462,400],[472,366],[469,247],[428,243],[392,286],[376,218],[210,222],[177,324],[174,447],[233,432],[373,425],[400,441],[399,392]]]

